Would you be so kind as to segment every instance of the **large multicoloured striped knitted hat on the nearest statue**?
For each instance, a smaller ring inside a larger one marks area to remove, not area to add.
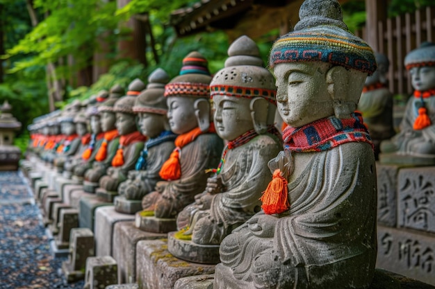
[[[366,42],[343,22],[336,0],[306,0],[299,10],[300,21],[273,44],[269,65],[286,62],[322,61],[371,75],[377,67]]]

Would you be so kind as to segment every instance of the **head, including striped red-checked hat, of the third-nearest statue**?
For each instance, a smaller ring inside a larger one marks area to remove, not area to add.
[[[199,127],[210,128],[211,81],[208,62],[199,52],[191,52],[183,59],[179,76],[165,85],[167,118],[172,132],[183,134]]]

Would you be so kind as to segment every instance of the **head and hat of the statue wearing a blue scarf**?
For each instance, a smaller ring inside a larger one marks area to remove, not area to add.
[[[133,112],[138,115],[138,128],[147,137],[154,138],[164,130],[170,130],[166,99],[163,96],[165,84],[169,80],[163,69],[156,69],[148,77],[147,89],[139,94],[134,103]]]

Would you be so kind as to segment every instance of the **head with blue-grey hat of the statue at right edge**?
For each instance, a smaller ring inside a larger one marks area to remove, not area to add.
[[[424,42],[407,54],[404,60],[411,75],[411,85],[418,91],[435,88],[435,44]]]

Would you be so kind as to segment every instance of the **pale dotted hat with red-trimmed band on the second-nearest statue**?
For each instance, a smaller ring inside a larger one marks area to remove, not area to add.
[[[211,80],[211,97],[262,97],[275,104],[275,80],[272,73],[262,67],[263,60],[255,42],[243,35],[229,46],[228,55],[225,68],[217,71]]]

